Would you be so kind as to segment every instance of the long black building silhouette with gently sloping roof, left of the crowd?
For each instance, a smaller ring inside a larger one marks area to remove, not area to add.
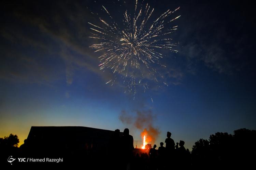
[[[114,131],[84,126],[31,126],[27,140],[37,153],[61,153],[63,150],[67,153],[91,148],[97,153],[107,149],[113,135]]]

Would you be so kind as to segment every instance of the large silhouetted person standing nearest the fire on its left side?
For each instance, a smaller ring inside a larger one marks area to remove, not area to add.
[[[130,163],[132,158],[133,137],[129,135],[129,129],[125,129],[123,136],[121,137],[122,151],[123,151],[123,163],[125,169],[130,169]]]

